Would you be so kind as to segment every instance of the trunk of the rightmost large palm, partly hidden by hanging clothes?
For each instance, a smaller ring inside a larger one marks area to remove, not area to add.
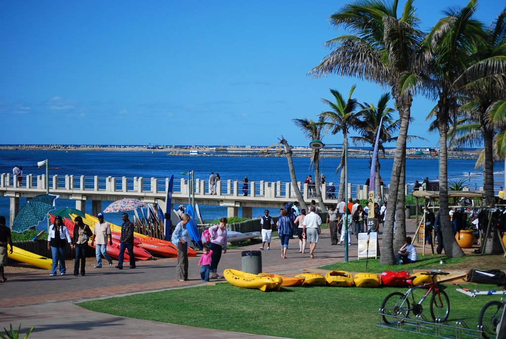
[[[483,124],[482,124],[483,126]],[[485,190],[485,204],[494,204],[494,158],[493,158],[493,131],[483,128],[483,144],[485,147],[485,162],[483,165],[483,189]],[[491,231],[486,239],[485,254],[499,254],[502,252],[501,239],[497,232]]]

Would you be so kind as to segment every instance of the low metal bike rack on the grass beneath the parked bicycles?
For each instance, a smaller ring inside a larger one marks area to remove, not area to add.
[[[392,324],[385,324],[383,317],[387,317]],[[391,320],[392,319],[392,320]],[[435,322],[429,321],[423,314],[416,315],[415,318],[403,317],[398,314],[391,314],[385,309],[379,309],[379,327],[395,328],[401,331],[413,333],[434,335],[446,339],[480,339],[482,337],[482,329],[472,329],[462,320],[455,321],[454,325],[450,325],[440,318]]]

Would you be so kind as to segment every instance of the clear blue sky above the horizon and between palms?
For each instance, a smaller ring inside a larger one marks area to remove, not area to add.
[[[270,145],[308,141],[293,118],[317,119],[329,88],[376,103],[388,89],[307,72],[343,32],[347,1],[0,2],[0,143]],[[404,6],[404,1],[400,1]],[[430,29],[462,0],[418,0]],[[481,0],[486,25],[506,0]],[[393,102],[391,102],[393,104]],[[409,133],[437,146],[413,101]],[[352,133],[353,135],[353,133]],[[326,143],[342,142],[328,135]]]

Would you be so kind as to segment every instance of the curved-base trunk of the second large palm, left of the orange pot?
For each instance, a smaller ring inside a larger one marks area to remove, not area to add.
[[[440,113],[444,108],[440,108]],[[444,112],[443,112],[444,114]],[[465,254],[455,240],[455,233],[450,222],[448,205],[448,149],[447,149],[447,119],[439,118],[439,214],[441,216],[441,230],[443,232],[444,251],[448,258],[459,258]]]

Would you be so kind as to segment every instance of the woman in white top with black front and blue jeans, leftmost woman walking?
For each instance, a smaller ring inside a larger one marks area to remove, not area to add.
[[[67,226],[63,224],[62,217],[58,215],[55,217],[55,223],[49,226],[48,234],[48,251],[51,251],[51,257],[53,258],[53,269],[50,274],[52,277],[56,275],[58,263],[60,264],[60,274],[65,275],[65,247],[67,241],[73,249],[74,245],[72,245]]]

